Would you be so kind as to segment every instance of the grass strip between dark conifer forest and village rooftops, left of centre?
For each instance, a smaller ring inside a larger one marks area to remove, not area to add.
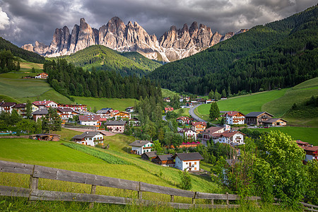
[[[135,99],[117,99],[117,98],[86,98],[80,96],[72,96],[75,102],[82,105],[87,105],[88,110],[100,110],[105,107],[112,107],[114,110],[124,111],[126,107],[134,107]]]

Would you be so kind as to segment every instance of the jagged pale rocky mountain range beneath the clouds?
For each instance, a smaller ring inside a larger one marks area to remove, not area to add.
[[[247,30],[240,30],[238,33],[245,31]],[[71,33],[66,26],[56,29],[50,45],[35,41],[34,46],[28,44],[22,48],[45,57],[58,57],[91,45],[104,45],[119,52],[139,52],[149,59],[175,61],[201,52],[233,35],[235,34],[232,32],[225,35],[218,32],[213,34],[211,28],[194,22],[190,28],[187,24],[182,29],[172,26],[158,40],[155,35],[148,35],[136,22],[133,24],[129,21],[125,25],[120,18],[114,17],[107,25],[95,29],[81,18],[80,25],[74,25]]]

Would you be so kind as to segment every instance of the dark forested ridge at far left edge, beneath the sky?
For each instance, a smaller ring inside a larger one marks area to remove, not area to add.
[[[10,50],[15,57],[20,57],[22,59],[25,59],[26,61],[34,62],[37,64],[42,64],[45,61],[45,58],[40,56],[39,54],[21,49],[20,47],[17,47],[11,42],[8,42],[7,40],[4,40],[4,38],[0,37],[0,50],[4,49]]]

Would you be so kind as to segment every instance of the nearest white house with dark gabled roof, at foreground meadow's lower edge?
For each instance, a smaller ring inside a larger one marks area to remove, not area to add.
[[[177,169],[186,171],[199,171],[200,160],[204,159],[200,153],[175,153],[172,158]]]

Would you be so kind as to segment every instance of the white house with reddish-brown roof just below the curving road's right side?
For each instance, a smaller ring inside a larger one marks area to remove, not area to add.
[[[214,143],[228,143],[231,146],[237,146],[244,143],[244,136],[240,131],[223,131],[222,133],[213,133]]]

